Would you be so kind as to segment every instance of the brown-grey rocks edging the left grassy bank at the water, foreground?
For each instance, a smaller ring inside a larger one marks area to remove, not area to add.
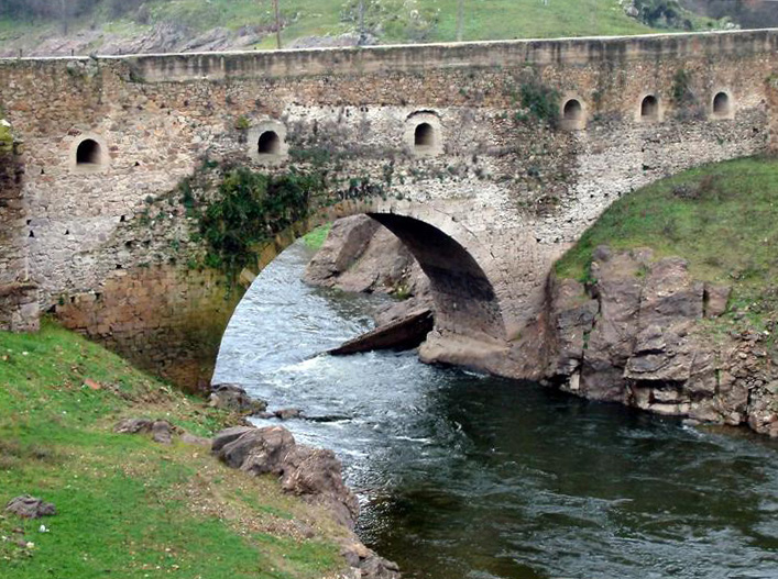
[[[349,530],[341,541],[341,554],[351,567],[349,578],[399,578],[394,563],[379,557],[353,533],[359,502],[343,483],[340,460],[332,450],[299,445],[283,426],[227,428],[216,435],[211,450],[233,468],[253,476],[275,475],[284,491],[324,504]]]

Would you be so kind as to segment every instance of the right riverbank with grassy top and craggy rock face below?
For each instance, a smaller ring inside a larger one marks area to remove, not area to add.
[[[546,375],[569,392],[778,437],[778,160],[613,203],[548,282]]]

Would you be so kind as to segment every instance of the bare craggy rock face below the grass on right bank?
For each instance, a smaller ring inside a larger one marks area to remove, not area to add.
[[[592,281],[551,277],[548,375],[563,390],[651,412],[748,424],[778,436],[778,370],[767,334],[713,339],[730,288],[692,279],[679,257],[599,247]]]

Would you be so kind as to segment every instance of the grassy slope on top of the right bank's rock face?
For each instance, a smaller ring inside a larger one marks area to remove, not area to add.
[[[686,171],[614,202],[556,265],[587,280],[598,245],[651,247],[689,261],[694,278],[732,286],[731,316],[764,330],[778,312],[778,159]]]

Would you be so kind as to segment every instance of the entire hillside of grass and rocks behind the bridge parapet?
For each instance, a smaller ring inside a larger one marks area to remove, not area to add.
[[[676,0],[465,0],[462,38],[709,30]],[[451,42],[458,0],[280,0],[284,47]],[[669,8],[668,8],[669,7]],[[627,14],[627,11],[632,15]],[[650,23],[650,25],[648,25]],[[130,54],[275,47],[271,0],[0,0],[0,54]]]

